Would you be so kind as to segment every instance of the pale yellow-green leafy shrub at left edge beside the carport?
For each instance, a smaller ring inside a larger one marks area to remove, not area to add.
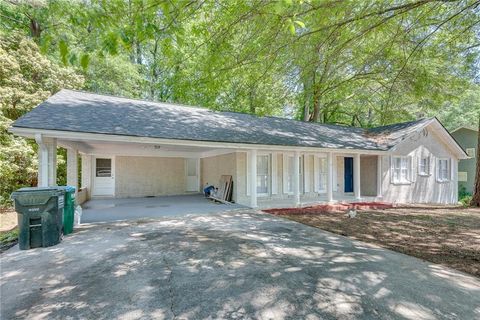
[[[18,34],[0,38],[0,206],[10,204],[15,189],[37,182],[36,145],[10,134],[12,121],[61,88],[82,84],[82,76],[52,63],[32,40]]]

